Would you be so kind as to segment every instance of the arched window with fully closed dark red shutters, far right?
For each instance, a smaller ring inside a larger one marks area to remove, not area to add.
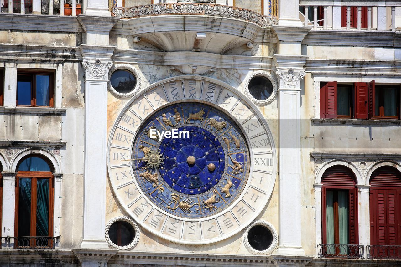
[[[392,166],[381,166],[373,172],[369,184],[371,245],[401,245],[401,172]],[[374,252],[390,256],[399,253],[385,248]]]

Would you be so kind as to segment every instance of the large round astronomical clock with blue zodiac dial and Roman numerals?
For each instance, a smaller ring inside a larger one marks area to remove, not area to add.
[[[115,121],[109,179],[141,227],[180,244],[223,240],[250,225],[275,182],[262,115],[231,86],[186,75],[136,95]],[[178,138],[166,132],[176,129]]]

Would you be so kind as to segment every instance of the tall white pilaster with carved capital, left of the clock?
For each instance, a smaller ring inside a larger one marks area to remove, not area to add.
[[[83,58],[85,68],[85,168],[82,248],[107,248],[107,81],[110,59]]]

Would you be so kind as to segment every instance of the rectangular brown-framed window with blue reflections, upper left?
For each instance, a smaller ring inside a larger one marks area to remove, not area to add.
[[[17,105],[53,107],[53,73],[17,73]]]

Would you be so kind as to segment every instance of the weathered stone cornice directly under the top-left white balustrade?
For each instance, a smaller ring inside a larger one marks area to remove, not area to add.
[[[1,13],[0,29],[42,32],[83,32],[83,28],[76,17],[34,14]]]

